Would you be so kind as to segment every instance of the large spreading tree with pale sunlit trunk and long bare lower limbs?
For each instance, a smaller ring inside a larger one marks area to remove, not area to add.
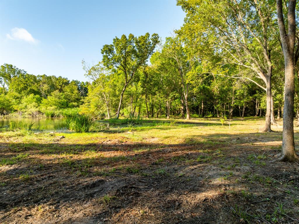
[[[271,112],[272,49],[277,44],[273,1],[179,0],[178,4],[187,13],[186,24],[195,24],[200,35],[214,38],[215,51],[222,54],[224,63],[241,65],[256,74],[257,81],[250,80],[266,90],[264,131],[271,131],[271,120],[275,122]],[[266,87],[258,84],[259,79]]]

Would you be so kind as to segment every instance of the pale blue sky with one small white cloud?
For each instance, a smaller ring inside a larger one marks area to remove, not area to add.
[[[86,80],[81,61],[98,62],[115,36],[162,39],[183,24],[176,1],[0,0],[0,64],[30,74]]]

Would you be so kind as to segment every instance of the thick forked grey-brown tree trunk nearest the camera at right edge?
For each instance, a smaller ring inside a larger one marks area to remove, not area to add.
[[[296,17],[295,8],[296,0],[289,0],[286,32],[285,21],[283,17],[282,0],[276,0],[277,21],[279,26],[280,41],[283,49],[284,67],[285,67],[285,93],[283,106],[283,140],[280,155],[281,161],[298,161],[299,158],[295,152],[294,144],[294,50],[296,37]]]

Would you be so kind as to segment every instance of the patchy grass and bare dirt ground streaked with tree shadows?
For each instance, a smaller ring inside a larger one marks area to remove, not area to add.
[[[0,223],[299,223],[299,164],[263,122],[0,132]]]

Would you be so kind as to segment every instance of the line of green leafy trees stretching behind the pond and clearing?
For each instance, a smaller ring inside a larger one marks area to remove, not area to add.
[[[108,118],[265,116],[265,132],[281,116],[287,115],[288,124],[295,116],[299,122],[295,1],[177,4],[186,13],[179,30],[163,41],[149,33],[115,37],[101,49],[101,62],[83,60],[88,82],[2,65],[0,112],[34,115],[79,107],[81,113]]]

